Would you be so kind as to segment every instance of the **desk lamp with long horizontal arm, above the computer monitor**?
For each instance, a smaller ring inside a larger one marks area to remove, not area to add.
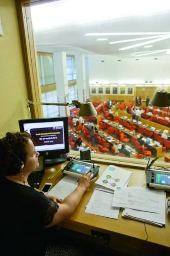
[[[96,115],[97,111],[94,108],[92,102],[85,101],[83,103],[80,103],[79,101],[73,100],[72,103],[54,103],[54,102],[32,102],[28,100],[28,107],[30,108],[31,105],[54,105],[54,106],[69,106],[73,107],[76,106],[76,108],[80,108],[78,115],[79,116],[92,116]]]

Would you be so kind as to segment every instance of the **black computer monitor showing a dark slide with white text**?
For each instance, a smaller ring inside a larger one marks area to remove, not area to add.
[[[21,132],[28,132],[45,166],[64,162],[69,153],[68,117],[18,120]]]

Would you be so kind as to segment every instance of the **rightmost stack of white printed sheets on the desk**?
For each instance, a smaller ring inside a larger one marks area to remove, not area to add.
[[[117,187],[113,196],[114,207],[125,208],[122,216],[158,226],[165,225],[165,197],[163,190],[138,186]]]

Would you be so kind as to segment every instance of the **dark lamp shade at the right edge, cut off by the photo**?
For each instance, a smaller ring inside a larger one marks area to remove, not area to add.
[[[166,91],[157,91],[155,92],[149,104],[156,107],[169,107],[170,94]]]

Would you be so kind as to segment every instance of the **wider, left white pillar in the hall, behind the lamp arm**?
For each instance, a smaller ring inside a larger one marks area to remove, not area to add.
[[[58,102],[68,102],[69,85],[67,80],[67,59],[65,52],[53,54],[54,75],[57,89]],[[60,116],[69,116],[69,107],[59,106]]]

